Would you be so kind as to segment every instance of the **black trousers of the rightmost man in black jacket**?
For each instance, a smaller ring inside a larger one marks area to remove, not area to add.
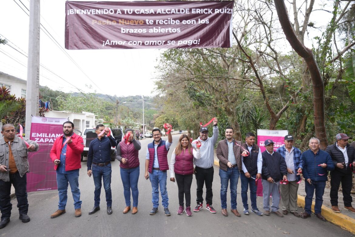
[[[350,195],[351,185],[353,185],[353,173],[345,174],[337,170],[331,171],[331,204],[338,206],[338,190],[340,182],[343,189],[344,206],[351,206],[353,198]]]

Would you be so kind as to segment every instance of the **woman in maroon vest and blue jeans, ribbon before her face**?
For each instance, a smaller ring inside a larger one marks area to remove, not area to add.
[[[138,212],[138,178],[139,178],[139,158],[138,151],[141,150],[141,143],[133,138],[133,130],[125,130],[127,139],[124,139],[117,145],[116,159],[120,163],[121,180],[126,200],[126,208],[123,213],[131,210],[131,190],[133,198],[132,214]]]

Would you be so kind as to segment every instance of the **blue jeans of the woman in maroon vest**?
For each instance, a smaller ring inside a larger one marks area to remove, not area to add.
[[[123,184],[123,195],[125,196],[126,206],[131,206],[131,189],[133,206],[138,206],[138,179],[139,166],[131,169],[120,168],[121,180]]]

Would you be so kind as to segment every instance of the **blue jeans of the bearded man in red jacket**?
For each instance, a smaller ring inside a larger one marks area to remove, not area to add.
[[[73,173],[61,174],[57,173],[57,185],[59,192],[59,204],[58,209],[64,210],[66,202],[68,200],[68,183],[70,184],[71,193],[74,200],[74,208],[81,208],[82,201],[80,200],[79,190],[79,169]]]

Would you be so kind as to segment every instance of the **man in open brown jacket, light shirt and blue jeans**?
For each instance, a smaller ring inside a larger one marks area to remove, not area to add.
[[[218,142],[217,158],[219,159],[219,177],[221,179],[221,206],[222,215],[228,216],[227,212],[227,189],[230,182],[230,203],[231,212],[235,216],[240,216],[237,211],[237,184],[239,174],[242,169],[241,154],[247,152],[242,149],[241,142],[233,139],[234,130],[231,127],[225,129],[226,139]]]

